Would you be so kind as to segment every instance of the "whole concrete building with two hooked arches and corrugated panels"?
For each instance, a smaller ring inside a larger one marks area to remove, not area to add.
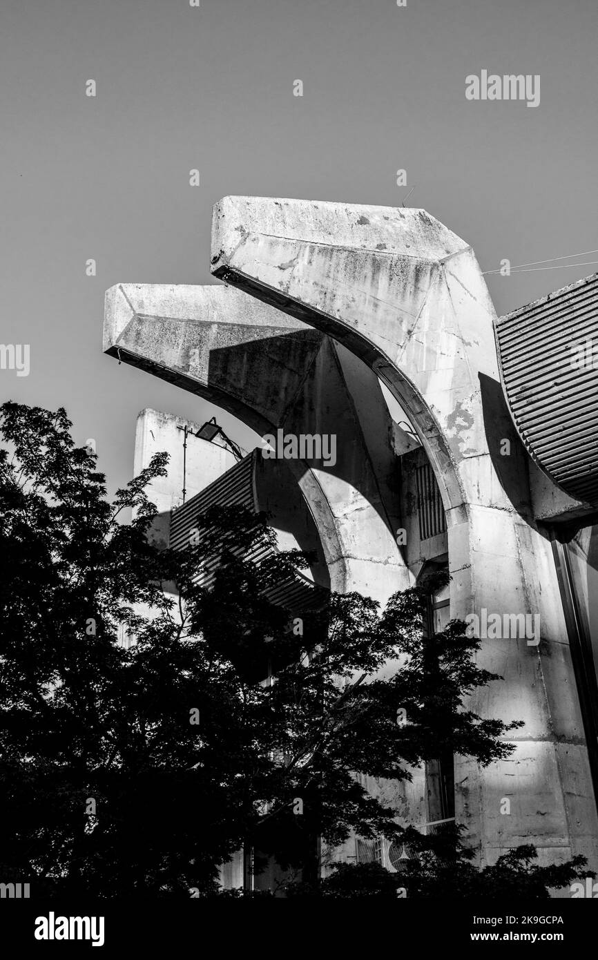
[[[145,411],[135,468],[175,453],[156,537],[180,527],[184,488],[266,504],[325,588],[384,604],[446,568],[431,620],[466,619],[504,677],[471,706],[525,726],[485,770],[443,757],[368,788],[402,823],[456,818],[480,863],[534,843],[598,868],[596,277],[497,319],[471,247],[424,210],[251,197],[216,204],[212,272],[224,285],[107,293],[108,354],[266,438],[237,463]],[[264,455],[287,438],[288,458]],[[333,855],[389,865],[358,838]]]

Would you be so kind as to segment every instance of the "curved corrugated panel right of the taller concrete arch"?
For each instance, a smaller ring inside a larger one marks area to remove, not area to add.
[[[501,317],[495,331],[523,443],[564,492],[598,506],[598,274]]]

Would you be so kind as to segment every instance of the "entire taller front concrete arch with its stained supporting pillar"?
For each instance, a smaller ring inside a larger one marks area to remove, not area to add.
[[[451,614],[539,615],[539,646],[484,640],[479,656],[505,683],[473,707],[525,721],[511,760],[489,771],[457,763],[457,818],[480,855],[493,860],[525,837],[595,863],[598,823],[556,573],[534,522],[473,251],[424,210],[228,197],[214,210],[212,254],[215,276],[345,344],[408,411],[443,492]],[[496,783],[519,811],[502,816],[500,830]]]

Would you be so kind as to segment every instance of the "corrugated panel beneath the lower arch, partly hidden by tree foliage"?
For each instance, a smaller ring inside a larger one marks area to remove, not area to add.
[[[191,497],[174,511],[170,523],[170,546],[173,549],[184,550],[189,545],[191,531],[199,526],[198,518],[210,507],[242,506],[257,514],[255,458],[258,452],[253,450],[209,487]],[[241,549],[235,549],[233,542],[227,545],[233,553],[241,555]],[[260,564],[272,557],[274,553],[275,550],[269,544],[258,542],[247,553],[245,559],[254,564]],[[218,565],[217,557],[205,560],[202,569],[198,570],[197,576],[194,577],[194,583],[208,588],[213,582]],[[298,572],[295,577],[283,580],[275,588],[267,590],[266,596],[277,606],[301,612],[322,606],[325,592],[322,588],[316,588],[310,580]]]

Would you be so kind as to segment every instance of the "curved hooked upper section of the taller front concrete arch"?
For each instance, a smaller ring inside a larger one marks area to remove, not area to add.
[[[425,210],[227,197],[212,272],[360,356],[404,406],[450,512],[486,454],[479,375],[498,383],[495,316],[475,256]],[[379,241],[373,243],[373,241]],[[503,403],[503,437],[517,444]],[[498,484],[497,506],[509,506]]]

